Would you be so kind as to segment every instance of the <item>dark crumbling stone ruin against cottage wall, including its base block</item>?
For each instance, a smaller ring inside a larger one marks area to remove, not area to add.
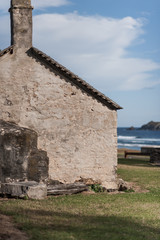
[[[37,148],[37,133],[0,120],[0,194],[42,199],[47,196],[47,153]]]

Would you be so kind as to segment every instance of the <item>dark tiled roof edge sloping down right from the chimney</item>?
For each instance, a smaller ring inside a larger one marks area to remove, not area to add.
[[[89,85],[86,81],[75,75],[73,72],[71,72],[70,70],[68,70],[67,68],[59,64],[57,61],[55,61],[53,58],[47,56],[37,48],[32,47],[30,49],[30,53],[33,54],[35,57],[39,58],[39,60],[44,61],[51,68],[57,69],[59,73],[69,78],[74,85],[78,86],[80,89],[93,96],[95,99],[106,105],[108,108],[112,110],[122,109],[122,107],[119,106],[117,103],[106,97],[104,94]]]

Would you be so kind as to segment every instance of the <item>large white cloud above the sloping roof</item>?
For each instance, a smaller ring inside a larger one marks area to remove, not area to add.
[[[159,63],[128,54],[143,42],[143,26],[131,17],[42,14],[34,17],[34,44],[101,91],[138,90],[160,84]]]

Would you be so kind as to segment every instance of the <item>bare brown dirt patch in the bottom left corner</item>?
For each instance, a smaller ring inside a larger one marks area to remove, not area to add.
[[[0,240],[28,240],[25,233],[20,231],[11,217],[0,214]]]

